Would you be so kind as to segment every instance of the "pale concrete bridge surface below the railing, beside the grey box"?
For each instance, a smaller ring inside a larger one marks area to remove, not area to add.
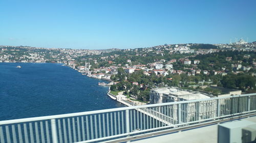
[[[241,120],[251,121],[256,123],[256,116],[250,118],[244,118]],[[237,120],[231,121],[236,122]],[[226,122],[225,122],[226,123]],[[141,140],[135,140],[131,142],[135,143],[150,143],[150,142],[158,142],[158,143],[217,143],[218,142],[218,124],[204,126],[200,128],[184,130],[181,132],[169,133],[165,135],[158,135],[153,137],[148,137]]]

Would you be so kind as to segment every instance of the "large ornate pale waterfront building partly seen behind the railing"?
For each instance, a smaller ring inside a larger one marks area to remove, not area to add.
[[[211,95],[203,94],[200,92],[193,92],[189,90],[183,90],[176,87],[167,88],[156,88],[152,89],[150,93],[150,103],[166,103],[166,102],[177,102],[186,100],[198,100],[198,99],[208,99]],[[170,106],[172,108],[172,113],[170,117],[177,120],[177,110],[178,106]],[[206,118],[216,117],[217,102],[216,101],[201,101],[200,105],[197,103],[188,103],[186,106],[182,106],[182,114],[185,118],[182,122],[189,122],[195,120],[196,116],[199,120]],[[161,112],[161,110],[158,110]]]

